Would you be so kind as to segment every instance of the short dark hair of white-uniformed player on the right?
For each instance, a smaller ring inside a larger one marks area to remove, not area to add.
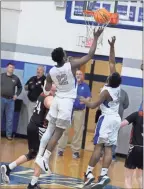
[[[117,88],[121,84],[121,76],[118,72],[114,72],[108,78],[108,84],[112,88]]]

